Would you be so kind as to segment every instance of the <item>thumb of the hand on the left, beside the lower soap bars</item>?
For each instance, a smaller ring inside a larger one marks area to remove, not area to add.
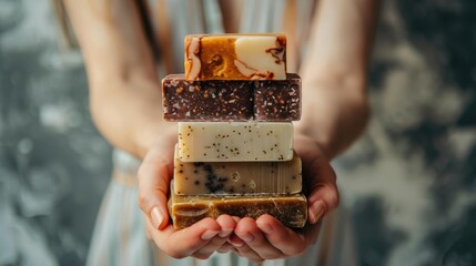
[[[172,176],[172,154],[156,149],[148,153],[139,172],[139,205],[155,229],[169,223],[166,201]]]

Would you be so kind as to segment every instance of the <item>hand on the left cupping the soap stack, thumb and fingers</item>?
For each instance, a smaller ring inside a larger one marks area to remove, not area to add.
[[[236,219],[221,215],[216,219],[204,218],[184,229],[173,228],[166,204],[175,143],[176,129],[173,129],[146,153],[139,170],[139,203],[145,214],[148,236],[174,258],[207,258],[226,243]]]

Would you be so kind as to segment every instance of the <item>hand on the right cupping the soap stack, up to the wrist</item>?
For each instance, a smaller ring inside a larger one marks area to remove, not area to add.
[[[262,215],[256,221],[242,218],[223,249],[231,249],[231,244],[239,255],[262,262],[300,255],[316,242],[321,228],[318,222],[338,206],[336,176],[312,139],[297,135],[294,147],[302,160],[303,187],[308,187],[305,192],[307,225],[302,229],[291,229],[270,215]]]

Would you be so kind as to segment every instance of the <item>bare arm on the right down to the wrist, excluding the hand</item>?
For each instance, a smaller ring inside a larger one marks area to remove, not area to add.
[[[314,139],[328,158],[345,151],[368,120],[366,72],[377,11],[376,0],[323,0],[313,21],[296,131]]]

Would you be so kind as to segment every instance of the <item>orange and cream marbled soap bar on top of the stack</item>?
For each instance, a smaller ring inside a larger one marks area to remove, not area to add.
[[[195,34],[185,37],[188,80],[284,80],[284,34]]]

